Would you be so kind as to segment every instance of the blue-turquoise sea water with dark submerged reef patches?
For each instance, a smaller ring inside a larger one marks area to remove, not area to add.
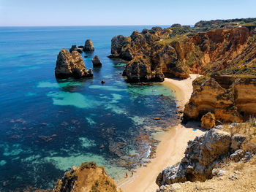
[[[172,91],[128,84],[122,61],[107,58],[111,38],[151,26],[0,28],[0,191],[53,188],[73,165],[95,161],[116,180],[146,164],[152,134],[176,123]],[[94,43],[94,78],[56,80],[61,48]],[[101,80],[105,80],[104,85]],[[161,117],[161,120],[154,120]]]

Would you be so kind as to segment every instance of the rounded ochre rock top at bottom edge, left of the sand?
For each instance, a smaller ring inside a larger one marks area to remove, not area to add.
[[[53,192],[121,192],[115,181],[109,177],[102,166],[94,162],[73,166],[54,186]]]

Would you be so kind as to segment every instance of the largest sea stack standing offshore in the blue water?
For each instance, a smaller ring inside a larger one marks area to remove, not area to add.
[[[83,63],[83,58],[76,50],[73,50],[70,54],[67,50],[62,49],[59,52],[56,61],[55,68],[56,78],[67,78],[67,77],[92,77],[92,70],[86,69]]]

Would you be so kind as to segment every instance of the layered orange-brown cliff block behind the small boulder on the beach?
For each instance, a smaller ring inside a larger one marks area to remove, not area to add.
[[[184,121],[200,120],[207,112],[212,112],[222,122],[242,122],[256,115],[253,107],[256,78],[223,76],[223,79],[222,76],[217,79],[199,77],[193,82],[193,93],[184,109]]]

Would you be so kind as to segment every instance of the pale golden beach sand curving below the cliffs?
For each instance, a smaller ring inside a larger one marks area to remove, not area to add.
[[[165,79],[162,84],[171,88],[176,96],[178,107],[183,110],[184,105],[189,101],[192,94],[192,81],[198,77],[198,74],[190,74],[187,80]],[[196,130],[195,130],[196,129]],[[165,132],[161,137],[161,142],[157,146],[156,158],[141,168],[127,179],[118,183],[118,187],[124,192],[155,192],[158,188],[155,180],[159,172],[167,166],[181,161],[184,157],[184,151],[189,140],[203,134],[199,129],[199,123],[187,123],[186,127],[178,124],[170,131]]]

